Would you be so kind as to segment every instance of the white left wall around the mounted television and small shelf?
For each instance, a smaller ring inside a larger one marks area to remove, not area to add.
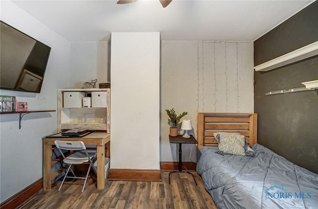
[[[57,89],[69,85],[70,43],[11,1],[1,1],[3,22],[50,46],[40,94],[0,90],[28,102],[29,110],[57,110]],[[18,114],[0,115],[1,203],[42,178],[42,137],[57,131],[57,112],[30,113],[19,129]]]

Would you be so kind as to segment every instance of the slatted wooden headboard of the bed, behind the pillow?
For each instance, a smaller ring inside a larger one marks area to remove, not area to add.
[[[218,146],[213,133],[240,133],[248,139],[248,145],[257,143],[257,113],[198,113],[197,149]]]

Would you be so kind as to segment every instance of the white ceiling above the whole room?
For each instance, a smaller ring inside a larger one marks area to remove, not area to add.
[[[313,0],[13,0],[70,42],[111,32],[160,31],[161,40],[255,41]]]

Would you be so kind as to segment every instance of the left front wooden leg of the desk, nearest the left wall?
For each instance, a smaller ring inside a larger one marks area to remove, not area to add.
[[[43,142],[43,189],[51,190],[52,145]]]

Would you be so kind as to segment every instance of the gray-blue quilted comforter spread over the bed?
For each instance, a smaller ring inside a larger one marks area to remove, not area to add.
[[[318,174],[255,144],[255,157],[202,147],[197,172],[218,209],[318,209]]]

